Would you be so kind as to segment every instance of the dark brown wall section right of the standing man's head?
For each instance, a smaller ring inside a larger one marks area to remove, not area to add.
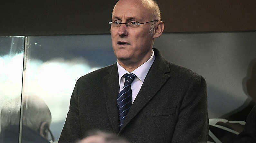
[[[255,0],[159,0],[165,32],[256,30]]]

